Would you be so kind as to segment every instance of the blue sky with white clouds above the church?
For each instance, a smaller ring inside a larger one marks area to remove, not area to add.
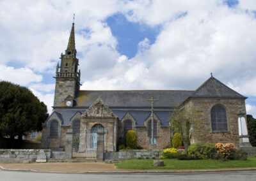
[[[1,0],[0,80],[50,113],[74,13],[81,90],[195,90],[212,73],[256,117],[255,0]]]

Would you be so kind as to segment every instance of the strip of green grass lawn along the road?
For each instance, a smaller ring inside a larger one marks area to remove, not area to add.
[[[180,169],[205,169],[205,168],[248,168],[256,167],[256,157],[248,157],[246,161],[214,161],[202,160],[177,160],[162,159],[164,166],[154,167],[153,159],[131,159],[116,163],[116,168],[136,170],[180,170]]]

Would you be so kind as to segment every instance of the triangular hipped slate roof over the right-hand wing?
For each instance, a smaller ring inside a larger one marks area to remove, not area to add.
[[[214,98],[244,98],[241,94],[230,89],[224,83],[220,82],[213,76],[206,80],[196,91],[189,96],[191,98],[214,97]]]

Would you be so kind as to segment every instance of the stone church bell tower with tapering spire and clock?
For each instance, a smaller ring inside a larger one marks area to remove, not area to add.
[[[77,72],[78,59],[76,58],[75,24],[73,22],[68,47],[65,55],[61,54],[61,64],[56,67],[56,84],[53,106],[74,106],[74,99],[80,89],[80,70]]]

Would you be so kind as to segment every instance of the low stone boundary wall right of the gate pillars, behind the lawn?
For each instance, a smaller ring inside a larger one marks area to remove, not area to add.
[[[163,150],[121,150],[104,153],[104,160],[159,159]]]

